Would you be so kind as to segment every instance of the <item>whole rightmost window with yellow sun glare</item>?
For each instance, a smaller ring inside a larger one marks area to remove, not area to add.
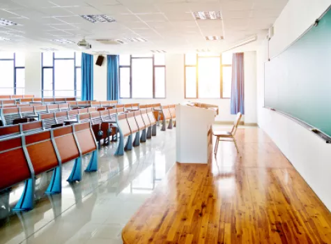
[[[230,98],[232,54],[185,54],[185,98]]]

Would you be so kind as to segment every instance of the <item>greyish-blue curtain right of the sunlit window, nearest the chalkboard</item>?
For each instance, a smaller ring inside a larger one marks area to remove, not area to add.
[[[231,114],[245,114],[244,107],[244,53],[232,56]]]

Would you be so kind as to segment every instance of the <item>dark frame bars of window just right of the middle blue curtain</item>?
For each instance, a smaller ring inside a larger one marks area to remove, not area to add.
[[[119,57],[121,59],[121,55]],[[132,98],[132,59],[152,59],[153,61],[153,98]],[[130,69],[130,96],[128,98],[121,97],[121,68]],[[164,98],[155,98],[155,68],[164,68]],[[167,98],[167,68],[165,65],[165,55],[164,55],[164,65],[155,64],[154,54],[151,56],[132,56],[130,55],[130,65],[118,65],[118,88],[120,99],[165,99]]]

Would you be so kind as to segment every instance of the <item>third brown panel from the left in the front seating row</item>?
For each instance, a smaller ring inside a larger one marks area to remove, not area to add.
[[[52,133],[62,164],[79,157],[79,150],[73,134],[72,125],[55,128],[52,130]]]

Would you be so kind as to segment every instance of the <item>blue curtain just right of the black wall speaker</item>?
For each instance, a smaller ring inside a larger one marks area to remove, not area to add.
[[[107,55],[107,100],[118,100],[118,55]]]

